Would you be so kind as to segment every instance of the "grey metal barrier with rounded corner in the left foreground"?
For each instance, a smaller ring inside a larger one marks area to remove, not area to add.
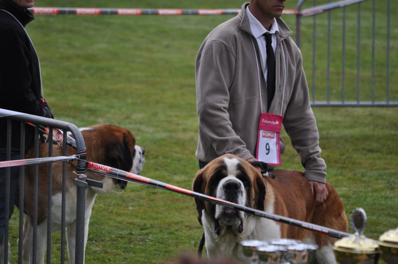
[[[26,122],[31,123],[35,126],[35,137],[34,137],[34,153],[35,158],[38,157],[38,142],[39,142],[39,126],[42,125],[44,127],[48,127],[49,135],[53,134],[53,128],[62,129],[64,131],[63,134],[63,155],[66,156],[66,137],[67,131],[70,131],[76,140],[76,148],[79,156],[79,160],[77,161],[77,174],[85,175],[86,174],[86,147],[83,140],[83,136],[80,130],[73,124],[49,119],[45,117],[29,115],[14,111],[9,111],[5,109],[0,109],[0,118],[7,119],[7,127],[1,128],[6,129],[7,131],[7,150],[6,157],[7,160],[10,160],[11,157],[11,120],[19,121],[21,124],[21,150],[25,148],[25,124]],[[52,137],[48,137],[49,141],[49,157],[52,157]],[[21,159],[23,160],[24,152],[21,151]],[[34,165],[34,193],[33,193],[33,203],[34,203],[34,215],[33,215],[33,260],[32,263],[36,263],[36,241],[37,241],[37,197],[38,197],[38,164]],[[47,221],[47,263],[51,263],[51,187],[52,187],[52,164],[48,164],[48,221]],[[5,202],[6,205],[9,203],[9,186],[10,186],[10,167],[6,169],[6,192],[5,192]],[[19,175],[19,241],[18,241],[18,263],[22,263],[22,231],[23,231],[23,200],[24,200],[24,167],[20,167],[20,175]],[[62,183],[62,217],[61,217],[61,263],[65,263],[65,204],[66,204],[66,161],[63,162],[63,183]],[[76,205],[76,256],[75,263],[81,264],[84,263],[84,212],[85,212],[85,189],[87,188],[87,182],[84,178],[78,177],[75,179],[75,185],[77,185],[77,205]],[[9,208],[5,206],[5,219],[8,219],[9,216]],[[26,216],[25,216],[26,217]],[[9,239],[9,224],[8,221],[5,221],[5,232],[3,245],[4,250],[0,252],[0,263],[8,263],[8,239]],[[15,249],[13,249],[15,252]]]

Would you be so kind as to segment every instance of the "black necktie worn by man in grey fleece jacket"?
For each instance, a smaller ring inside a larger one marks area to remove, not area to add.
[[[272,35],[265,33],[265,49],[266,49],[266,93],[267,107],[271,105],[273,95],[275,94],[275,54],[272,48]]]

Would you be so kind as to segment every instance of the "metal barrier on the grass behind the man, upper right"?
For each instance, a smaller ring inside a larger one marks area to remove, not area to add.
[[[391,0],[328,0],[320,5],[313,0],[312,7],[302,9],[306,1],[297,4],[296,43],[304,59],[312,54],[312,71],[307,75],[311,105],[397,107],[398,89],[396,84],[390,86],[390,58],[398,56],[390,47],[396,10]],[[383,10],[382,17],[376,17],[377,10]],[[309,67],[310,63],[305,65]]]

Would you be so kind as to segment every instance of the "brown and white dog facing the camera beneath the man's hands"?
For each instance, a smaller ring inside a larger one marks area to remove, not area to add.
[[[275,170],[276,177],[263,177],[247,161],[231,154],[219,157],[198,171],[193,191],[280,216],[347,232],[347,217],[336,190],[326,183],[329,196],[315,205],[308,180],[302,172]],[[317,245],[317,262],[336,263],[336,239],[308,230],[261,218],[200,199],[195,199],[202,220],[209,258],[229,257],[244,262],[243,240],[289,238]]]

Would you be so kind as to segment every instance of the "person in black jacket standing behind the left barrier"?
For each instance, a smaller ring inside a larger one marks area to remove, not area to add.
[[[0,108],[53,118],[43,99],[40,64],[25,30],[34,19],[27,8],[34,0],[0,0]],[[20,122],[11,123],[11,160],[20,159]],[[6,160],[7,119],[0,118],[0,161]],[[34,128],[25,125],[25,150],[33,141]],[[0,169],[0,243],[5,221],[5,168]],[[19,167],[11,167],[9,217],[14,209]],[[0,257],[3,252],[0,252]]]

